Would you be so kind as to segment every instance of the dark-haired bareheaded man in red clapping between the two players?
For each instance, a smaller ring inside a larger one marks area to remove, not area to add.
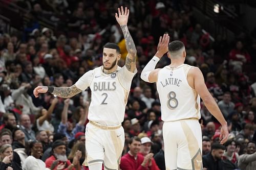
[[[137,136],[129,141],[130,151],[122,156],[120,168],[122,170],[154,170],[152,163],[149,163],[153,158],[153,154],[147,154],[145,157],[138,154],[141,147],[141,140]]]

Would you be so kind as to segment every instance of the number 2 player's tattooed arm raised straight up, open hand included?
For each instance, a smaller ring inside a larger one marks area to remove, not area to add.
[[[118,8],[118,15],[116,13],[116,20],[122,29],[123,36],[125,39],[125,46],[128,52],[128,55],[126,56],[126,60],[125,60],[125,66],[129,71],[134,72],[136,69],[137,50],[136,50],[133,38],[127,27],[128,17],[129,17],[129,9],[127,9],[127,7],[125,7],[125,10],[123,10],[123,7],[121,7],[121,10],[120,8]]]

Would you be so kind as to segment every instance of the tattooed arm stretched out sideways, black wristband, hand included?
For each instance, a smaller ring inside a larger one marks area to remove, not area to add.
[[[72,98],[74,95],[80,93],[82,90],[72,85],[70,87],[52,87],[52,86],[38,86],[34,89],[34,95],[38,98],[39,93],[50,92],[54,95],[57,95],[61,98]]]

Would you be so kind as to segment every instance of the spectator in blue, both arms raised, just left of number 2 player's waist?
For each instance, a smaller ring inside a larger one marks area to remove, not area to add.
[[[61,122],[58,127],[58,133],[63,133],[67,136],[68,140],[72,140],[77,132],[82,132],[84,130],[84,123],[86,122],[87,112],[81,115],[79,122],[73,127],[73,124],[68,121],[68,109],[69,109],[70,99],[64,101],[64,107],[61,113]]]

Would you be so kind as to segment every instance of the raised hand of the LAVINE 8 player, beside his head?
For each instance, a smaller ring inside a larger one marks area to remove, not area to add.
[[[168,44],[169,44],[170,36],[168,34],[164,34],[163,37],[159,38],[159,42],[157,45],[157,53],[155,56],[161,58],[165,53],[168,52]]]

